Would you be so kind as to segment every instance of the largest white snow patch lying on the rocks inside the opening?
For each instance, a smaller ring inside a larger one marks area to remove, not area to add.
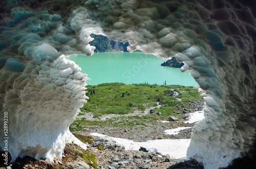
[[[109,137],[103,134],[91,133],[91,135],[99,137]],[[186,158],[187,148],[190,143],[190,139],[159,139],[148,140],[146,142],[135,142],[133,140],[109,137],[115,140],[118,144],[123,144],[125,150],[139,150],[140,147],[150,149],[155,148],[158,153],[162,155],[168,154],[173,159]]]

